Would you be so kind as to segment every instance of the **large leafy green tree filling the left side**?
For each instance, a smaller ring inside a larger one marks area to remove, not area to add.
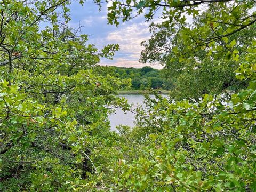
[[[68,28],[69,3],[0,3],[1,191],[67,191],[99,175],[94,145],[112,134],[106,106],[119,106],[122,83],[91,68],[118,45],[98,51]]]

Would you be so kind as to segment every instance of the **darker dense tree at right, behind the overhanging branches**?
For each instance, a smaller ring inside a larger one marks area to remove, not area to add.
[[[197,17],[194,21],[195,26],[200,25],[199,18]],[[236,58],[233,61],[227,61],[223,57],[215,56],[212,60],[212,53],[208,53],[209,50],[187,53],[182,58],[176,57],[174,48],[179,47],[178,49],[182,52],[186,50],[185,43],[181,40],[180,30],[161,24],[151,24],[152,36],[147,42],[142,42],[145,49],[141,52],[140,58],[141,62],[160,63],[165,67],[165,77],[172,78],[172,83],[175,85],[171,92],[172,97],[198,99],[202,94],[218,94],[223,90],[237,90],[246,85],[245,82],[235,79],[233,71],[239,65]],[[239,35],[230,36],[229,42],[239,42],[231,48],[238,53],[237,58],[244,57],[244,50],[250,45],[249,39],[255,36],[251,31],[252,28],[249,28],[243,33],[240,32]],[[217,43],[222,45],[223,41]],[[226,52],[229,50],[227,48]]]

